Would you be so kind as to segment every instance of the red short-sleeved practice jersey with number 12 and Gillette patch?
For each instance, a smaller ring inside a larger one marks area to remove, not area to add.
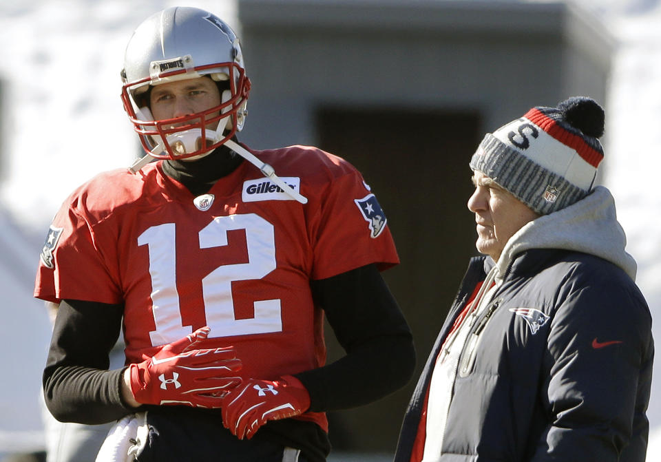
[[[254,154],[308,203],[249,162],[198,197],[161,162],[98,175],[56,214],[34,295],[124,304],[127,363],[209,326],[200,348],[233,346],[244,377],[322,366],[310,280],[385,269],[399,262],[395,245],[375,196],[342,158],[302,146]],[[326,427],[322,415],[303,417]]]

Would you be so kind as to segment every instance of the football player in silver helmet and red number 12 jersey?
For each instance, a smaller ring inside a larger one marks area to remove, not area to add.
[[[61,421],[118,423],[97,460],[325,461],[325,411],[401,388],[410,329],[374,193],[315,147],[238,142],[250,81],[229,26],[168,8],[130,39],[122,99],[147,151],[76,189],[35,295]],[[324,315],[346,355],[325,364]],[[120,329],[126,364],[108,370]],[[397,365],[397,366],[393,366]]]

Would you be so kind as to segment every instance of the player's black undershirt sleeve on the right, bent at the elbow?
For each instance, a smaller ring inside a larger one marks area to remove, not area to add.
[[[347,355],[297,375],[310,409],[353,408],[406,385],[415,368],[412,334],[377,266],[311,282],[315,302]]]

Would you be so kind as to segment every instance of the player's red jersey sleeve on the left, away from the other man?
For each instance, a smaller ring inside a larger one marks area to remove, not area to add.
[[[55,303],[71,299],[115,304],[122,300],[117,280],[98,249],[92,224],[65,202],[41,249],[34,296]]]

